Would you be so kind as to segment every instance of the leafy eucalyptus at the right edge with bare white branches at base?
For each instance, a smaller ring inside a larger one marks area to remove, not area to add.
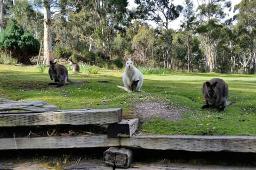
[[[246,72],[247,64],[250,64],[251,72],[256,73],[256,1],[242,0],[235,6],[239,10],[237,16],[236,31],[238,45],[242,47],[239,62]]]

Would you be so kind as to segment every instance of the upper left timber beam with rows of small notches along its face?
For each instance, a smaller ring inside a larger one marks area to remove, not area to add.
[[[0,126],[109,124],[122,120],[122,108],[75,109],[44,113],[0,114]]]

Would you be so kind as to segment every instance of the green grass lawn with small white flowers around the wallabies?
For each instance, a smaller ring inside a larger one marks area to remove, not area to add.
[[[137,102],[160,100],[170,107],[187,109],[178,122],[151,118],[141,127],[146,134],[256,135],[255,75],[144,74],[141,90],[146,92],[127,93],[116,87],[123,86],[122,73],[110,70],[100,70],[98,74],[69,72],[71,80],[90,83],[67,83],[63,88],[55,88],[47,85],[51,82],[47,69],[41,73],[36,66],[0,65],[0,94],[2,98],[18,101],[44,100],[59,109],[122,107],[124,117],[133,115]],[[201,109],[204,105],[202,84],[215,77],[228,83],[229,100],[236,102],[226,107],[225,112]]]

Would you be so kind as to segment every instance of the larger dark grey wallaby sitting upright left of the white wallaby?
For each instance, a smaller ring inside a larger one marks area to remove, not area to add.
[[[49,85],[58,85],[61,87],[65,84],[66,81],[70,83],[75,83],[68,78],[68,70],[64,65],[56,64],[57,62],[50,61],[49,75],[51,80],[54,80],[54,83],[49,83]]]

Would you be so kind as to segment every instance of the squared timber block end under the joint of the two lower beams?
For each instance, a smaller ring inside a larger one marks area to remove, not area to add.
[[[103,162],[108,166],[128,168],[132,163],[132,151],[111,147],[103,153]]]

